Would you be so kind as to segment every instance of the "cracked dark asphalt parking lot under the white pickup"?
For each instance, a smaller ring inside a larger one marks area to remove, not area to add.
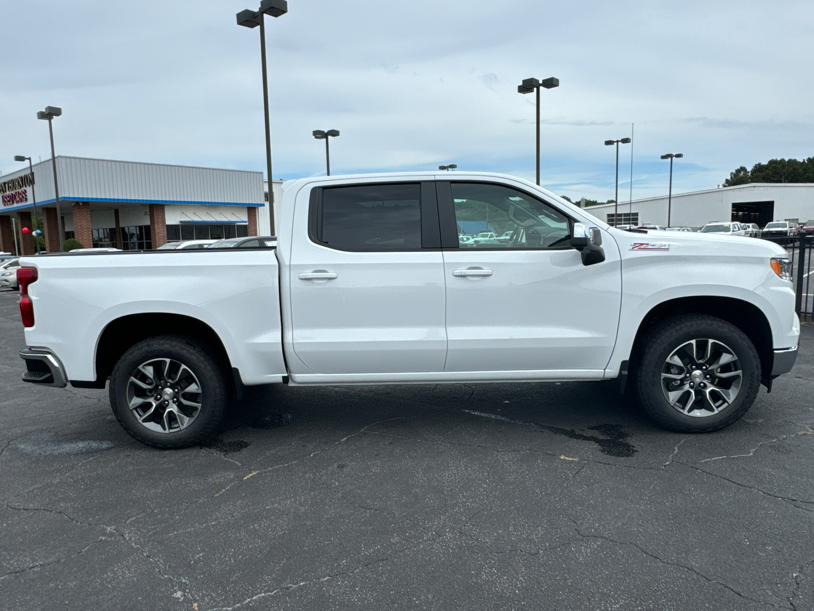
[[[267,388],[157,451],[20,381],[16,299],[3,609],[814,609],[812,325],[719,433],[605,383]]]

